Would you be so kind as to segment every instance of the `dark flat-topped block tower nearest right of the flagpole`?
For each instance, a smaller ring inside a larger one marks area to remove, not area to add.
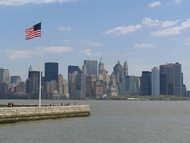
[[[56,80],[58,77],[58,63],[45,63],[45,82]]]

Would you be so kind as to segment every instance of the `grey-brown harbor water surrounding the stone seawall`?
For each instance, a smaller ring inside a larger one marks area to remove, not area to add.
[[[0,100],[0,104],[38,100]],[[0,125],[0,143],[189,143],[189,101],[42,100],[88,104],[91,115]],[[14,108],[14,107],[13,107]]]

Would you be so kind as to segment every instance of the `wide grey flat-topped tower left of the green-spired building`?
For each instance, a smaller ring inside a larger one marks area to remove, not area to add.
[[[86,65],[86,74],[95,75],[97,77],[98,72],[98,62],[94,60],[84,60],[84,65]]]

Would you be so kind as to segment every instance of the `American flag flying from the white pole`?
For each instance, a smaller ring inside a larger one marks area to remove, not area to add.
[[[35,37],[41,37],[41,22],[26,29],[26,38],[25,40],[30,40]]]

